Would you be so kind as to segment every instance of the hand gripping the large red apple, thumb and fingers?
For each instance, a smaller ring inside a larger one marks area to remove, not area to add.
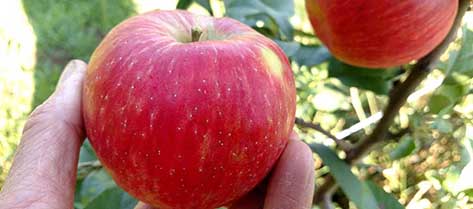
[[[55,92],[30,115],[0,191],[0,209],[73,208],[79,150],[85,138],[81,98],[86,69],[83,61],[69,62]],[[265,182],[229,207],[309,209],[313,193],[312,152],[293,134]],[[140,202],[135,209],[152,207]]]

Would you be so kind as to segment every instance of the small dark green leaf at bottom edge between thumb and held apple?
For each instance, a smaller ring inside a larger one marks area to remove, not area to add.
[[[119,187],[112,187],[100,193],[85,209],[133,209],[137,202]]]

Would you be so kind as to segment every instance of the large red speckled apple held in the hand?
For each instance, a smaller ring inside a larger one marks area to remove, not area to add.
[[[190,42],[191,30],[201,40]],[[210,209],[271,170],[294,126],[296,92],[276,43],[229,18],[153,11],[116,26],[83,89],[105,169],[160,209]]]

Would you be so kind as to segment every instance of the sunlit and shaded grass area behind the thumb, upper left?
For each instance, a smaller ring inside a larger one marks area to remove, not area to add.
[[[103,36],[135,14],[129,0],[2,2],[0,185],[26,116],[53,91],[70,59],[88,60]],[[4,43],[7,43],[4,45]]]

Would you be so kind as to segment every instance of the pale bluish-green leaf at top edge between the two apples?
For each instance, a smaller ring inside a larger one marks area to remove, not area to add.
[[[254,26],[260,20],[269,24],[268,20],[274,20],[278,28],[272,28],[273,34],[278,34],[281,40],[292,40],[294,29],[289,18],[294,15],[294,2],[290,0],[225,0],[226,15]],[[264,14],[270,18],[256,18]],[[270,24],[269,24],[270,25]]]

